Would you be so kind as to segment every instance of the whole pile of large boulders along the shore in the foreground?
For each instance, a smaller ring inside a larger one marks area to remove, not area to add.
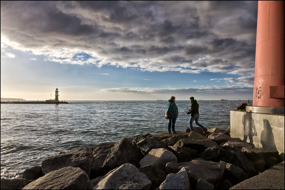
[[[189,132],[59,152],[21,179],[1,179],[1,189],[229,189],[281,162],[277,150],[231,138],[230,127]]]

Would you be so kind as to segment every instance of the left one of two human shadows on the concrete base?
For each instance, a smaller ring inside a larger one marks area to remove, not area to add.
[[[243,132],[243,141],[247,141],[249,139],[249,143],[254,146],[253,144],[253,136],[257,135],[254,120],[251,116],[251,112],[245,113],[243,116],[243,126],[244,126],[244,132]],[[271,131],[272,133],[272,131]]]

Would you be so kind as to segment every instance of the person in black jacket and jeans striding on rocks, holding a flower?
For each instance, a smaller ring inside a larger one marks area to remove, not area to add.
[[[190,110],[188,112],[186,112],[186,114],[187,115],[191,114],[191,117],[189,120],[191,132],[194,131],[192,123],[195,120],[195,124],[198,125],[199,127],[201,127],[203,129],[204,133],[206,133],[207,128],[198,122],[199,121],[199,104],[197,103],[197,100],[194,100],[194,97],[192,96],[192,97],[190,97],[190,102],[191,102],[191,107],[190,107]]]

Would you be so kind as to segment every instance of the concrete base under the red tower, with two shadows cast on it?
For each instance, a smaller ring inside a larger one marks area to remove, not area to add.
[[[231,110],[230,117],[231,137],[258,148],[278,150],[284,161],[284,114]]]

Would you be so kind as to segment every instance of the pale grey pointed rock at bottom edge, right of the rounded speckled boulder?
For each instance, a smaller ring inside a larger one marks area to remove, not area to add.
[[[183,167],[177,174],[168,174],[159,189],[191,189],[186,168]]]

